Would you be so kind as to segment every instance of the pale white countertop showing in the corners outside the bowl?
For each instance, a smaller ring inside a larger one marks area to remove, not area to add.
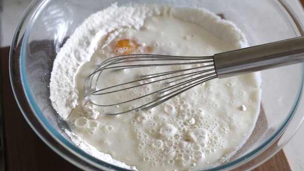
[[[17,23],[31,0],[2,0],[0,47],[8,47]],[[298,0],[286,0],[304,24],[304,10]],[[0,0],[1,2],[1,0]],[[304,124],[283,148],[292,171],[304,171]]]

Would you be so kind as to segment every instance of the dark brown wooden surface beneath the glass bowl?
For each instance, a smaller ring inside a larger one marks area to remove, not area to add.
[[[0,134],[0,147],[5,149],[5,166],[0,171],[80,171],[52,151],[33,132],[20,112],[10,86],[8,74],[9,47],[0,48],[1,98],[4,136]],[[0,115],[1,116],[1,115]],[[1,141],[0,141],[1,142]],[[1,156],[0,156],[1,158]],[[254,171],[291,171],[281,150]]]

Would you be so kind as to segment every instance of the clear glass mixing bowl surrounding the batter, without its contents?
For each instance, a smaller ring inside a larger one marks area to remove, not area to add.
[[[116,0],[119,6],[169,4],[203,7],[222,14],[246,35],[251,46],[302,36],[303,27],[283,0]],[[111,0],[34,0],[15,31],[10,78],[24,117],[45,143],[84,170],[126,171],[80,150],[49,99],[53,61],[80,23]],[[215,170],[251,170],[288,142],[304,118],[303,64],[262,71],[262,109],[256,128],[236,155]]]

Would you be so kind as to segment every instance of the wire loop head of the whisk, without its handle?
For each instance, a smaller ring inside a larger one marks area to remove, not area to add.
[[[213,56],[130,54],[98,65],[86,79],[84,92],[107,114],[122,114],[152,109],[213,78]]]

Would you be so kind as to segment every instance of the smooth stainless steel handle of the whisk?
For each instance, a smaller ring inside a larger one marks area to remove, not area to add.
[[[215,54],[218,78],[304,62],[304,36]]]

